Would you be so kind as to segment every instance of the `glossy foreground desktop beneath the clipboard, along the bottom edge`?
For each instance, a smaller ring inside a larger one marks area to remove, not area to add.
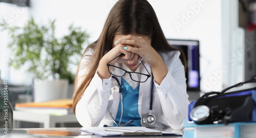
[[[0,133],[0,135],[4,135],[4,137],[8,137],[8,138],[27,138],[27,137],[37,137],[37,138],[45,138],[45,137],[53,137],[53,138],[56,138],[56,136],[50,136],[50,135],[40,135],[40,134],[27,134],[27,130],[31,130],[31,129],[36,129],[36,128],[26,128],[26,129],[9,129],[8,130],[8,134],[3,134],[3,133]],[[38,128],[40,129],[40,128]],[[100,138],[100,136],[97,136],[97,135],[82,135],[84,133],[82,132],[79,132],[79,129],[80,127],[73,127],[73,128],[49,128],[49,129],[53,129],[53,130],[59,130],[59,131],[69,131],[69,132],[75,132],[78,134],[77,135],[73,135],[73,136],[58,136],[58,137],[79,137],[79,138]],[[3,130],[3,129],[2,129]],[[179,131],[179,133],[182,133],[183,131],[182,130],[175,130],[175,132],[177,133]],[[172,132],[172,131],[171,131]],[[2,136],[1,136],[2,137]],[[115,136],[115,138],[117,138],[118,136]],[[123,137],[123,136],[121,136]],[[136,138],[147,138],[146,136],[128,136],[129,137],[136,137]],[[152,136],[152,137],[164,137],[164,138],[180,138],[182,136]],[[110,138],[114,138],[114,137],[110,137]]]

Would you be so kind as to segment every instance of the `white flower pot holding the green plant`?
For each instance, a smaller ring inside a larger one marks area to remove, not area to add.
[[[68,88],[68,79],[34,79],[34,102],[67,98]]]

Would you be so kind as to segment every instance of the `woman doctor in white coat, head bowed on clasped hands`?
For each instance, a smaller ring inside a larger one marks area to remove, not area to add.
[[[189,104],[184,59],[167,43],[146,0],[119,0],[78,65],[78,122],[182,129]]]

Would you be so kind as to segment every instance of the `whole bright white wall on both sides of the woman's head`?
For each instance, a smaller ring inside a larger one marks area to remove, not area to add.
[[[90,42],[95,41],[101,33],[105,18],[111,7],[117,0],[36,0],[31,1],[32,7],[28,9],[28,13],[24,12],[20,15],[20,24],[28,16],[35,18],[36,22],[47,22],[49,19],[56,19],[57,35],[61,36],[67,32],[67,26],[74,23],[82,26],[90,33]],[[177,39],[197,39],[200,41],[201,54],[201,86],[204,91],[221,90],[222,79],[206,86],[207,82],[214,75],[215,70],[219,70],[222,66],[222,43],[221,43],[221,0],[148,0],[153,6],[158,16],[166,38]],[[1,3],[0,3],[1,6]],[[0,7],[1,8],[1,7]],[[2,8],[1,8],[2,9]],[[14,8],[15,9],[15,8]],[[10,11],[12,12],[12,11]],[[3,11],[0,12],[0,20],[2,20]],[[180,27],[177,27],[177,24]],[[0,32],[1,52],[7,51],[7,42],[2,39],[5,36]],[[2,50],[3,49],[3,50]],[[9,54],[9,53],[8,53]],[[6,62],[9,55],[0,55],[1,76],[9,79],[14,84],[28,84],[28,77],[24,77],[24,73],[19,72],[14,76],[6,75],[10,72]],[[4,60],[2,60],[4,58]],[[15,72],[12,70],[12,72]],[[12,74],[12,73],[9,73]],[[14,73],[15,74],[15,73]]]

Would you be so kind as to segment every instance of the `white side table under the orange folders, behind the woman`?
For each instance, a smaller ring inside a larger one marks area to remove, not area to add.
[[[75,115],[54,116],[47,114],[13,111],[13,126],[17,128],[18,121],[42,123],[44,128],[56,127],[56,123],[77,123]]]

